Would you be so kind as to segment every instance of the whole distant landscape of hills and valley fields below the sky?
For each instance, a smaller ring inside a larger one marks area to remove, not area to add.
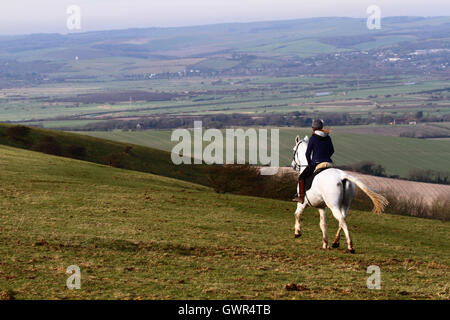
[[[362,18],[322,17],[0,38],[0,121],[74,129],[161,115],[345,112],[357,124],[419,111],[447,121],[449,21],[386,17],[373,31]]]

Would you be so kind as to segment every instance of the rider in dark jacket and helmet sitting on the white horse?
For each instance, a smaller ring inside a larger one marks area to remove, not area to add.
[[[312,123],[313,134],[306,149],[308,166],[298,177],[298,197],[293,201],[303,203],[305,200],[305,179],[314,173],[316,166],[321,162],[333,162],[331,156],[334,153],[333,143],[328,135],[329,131],[323,129],[322,120],[314,120]],[[312,156],[311,156],[312,154]]]

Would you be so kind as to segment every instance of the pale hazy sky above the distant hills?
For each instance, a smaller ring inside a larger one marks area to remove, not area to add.
[[[67,8],[81,9],[79,32],[308,17],[450,16],[449,0],[0,0],[0,34],[68,33]]]

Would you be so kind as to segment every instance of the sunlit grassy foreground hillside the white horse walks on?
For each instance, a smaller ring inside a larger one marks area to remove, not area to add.
[[[0,297],[450,298],[448,223],[351,211],[350,255],[319,249],[313,210],[294,239],[294,207],[0,146]],[[328,226],[331,237],[330,215]],[[381,290],[366,288],[373,264]]]

